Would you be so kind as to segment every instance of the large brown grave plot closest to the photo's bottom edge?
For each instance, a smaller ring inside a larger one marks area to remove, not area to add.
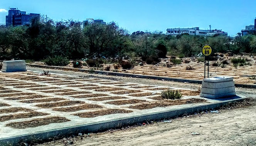
[[[49,117],[49,118],[33,119],[30,121],[13,122],[13,123],[6,124],[6,126],[12,127],[12,128],[25,129],[25,128],[48,125],[51,123],[64,123],[67,121],[71,121],[71,120],[66,119],[64,117]]]

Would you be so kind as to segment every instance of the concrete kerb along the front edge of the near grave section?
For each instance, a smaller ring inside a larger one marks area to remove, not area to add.
[[[229,98],[230,99],[230,98]],[[180,117],[184,114],[199,113],[201,111],[209,111],[213,109],[219,109],[239,101],[244,101],[246,98],[236,98],[232,100],[220,101],[219,103],[209,103],[206,105],[193,106],[189,108],[173,109],[169,111],[157,112],[153,114],[143,114],[140,116],[132,116],[127,118],[113,119],[109,121],[103,121],[98,123],[90,123],[78,126],[72,126],[67,128],[59,128],[54,130],[48,130],[39,133],[25,134],[20,136],[13,136],[10,138],[1,138],[0,146],[12,145],[16,146],[22,142],[30,143],[43,143],[49,141],[49,139],[63,138],[66,136],[78,135],[78,133],[98,133],[106,131],[108,129],[121,128],[123,126],[131,126],[136,123],[143,123],[146,121],[155,121],[160,119],[169,119]]]

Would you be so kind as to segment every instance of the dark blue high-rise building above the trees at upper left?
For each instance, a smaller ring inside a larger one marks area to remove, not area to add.
[[[29,13],[26,14],[25,11],[17,10],[16,8],[10,8],[8,15],[5,17],[6,26],[20,26],[20,25],[30,25],[30,20],[34,17],[40,18],[40,14]]]

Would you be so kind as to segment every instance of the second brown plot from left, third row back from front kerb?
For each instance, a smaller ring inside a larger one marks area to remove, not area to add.
[[[52,107],[58,107],[58,106],[71,106],[71,105],[80,105],[83,104],[83,101],[62,101],[57,103],[45,103],[36,105],[40,108],[52,108]]]

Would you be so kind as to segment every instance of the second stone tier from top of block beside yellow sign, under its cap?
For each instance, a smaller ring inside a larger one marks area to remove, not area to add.
[[[218,88],[226,88],[226,87],[232,87],[232,86],[235,86],[234,81],[226,81],[226,82],[219,82],[219,83],[202,82],[202,88],[218,89]]]

